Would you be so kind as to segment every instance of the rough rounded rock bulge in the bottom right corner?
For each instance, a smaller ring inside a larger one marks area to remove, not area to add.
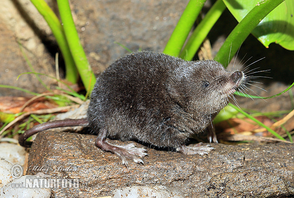
[[[294,195],[294,180],[258,171],[222,173],[212,177],[208,198],[268,198]]]

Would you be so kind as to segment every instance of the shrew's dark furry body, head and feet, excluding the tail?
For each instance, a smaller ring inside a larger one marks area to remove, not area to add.
[[[98,77],[91,95],[88,122],[98,133],[96,145],[118,154],[123,163],[144,150],[121,148],[106,137],[171,147],[185,154],[206,154],[212,148],[185,146],[193,133],[211,125],[244,78],[213,60],[189,62],[153,52],[127,55]]]

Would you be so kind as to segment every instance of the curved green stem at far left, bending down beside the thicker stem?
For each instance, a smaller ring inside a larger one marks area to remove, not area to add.
[[[66,80],[71,83],[76,83],[78,73],[74,65],[73,56],[71,54],[69,45],[65,38],[64,30],[58,18],[44,0],[31,0],[31,2],[37,8],[39,13],[44,17],[56,39],[65,62]]]

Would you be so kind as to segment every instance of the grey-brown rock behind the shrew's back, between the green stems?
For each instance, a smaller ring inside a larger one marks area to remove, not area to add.
[[[96,73],[140,48],[162,52],[189,0],[71,1],[74,19]]]

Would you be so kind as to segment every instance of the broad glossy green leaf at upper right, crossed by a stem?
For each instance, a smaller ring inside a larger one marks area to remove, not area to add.
[[[229,11],[240,22],[246,14],[263,0],[223,0]],[[285,0],[270,12],[252,31],[266,47],[270,43],[294,50],[294,0]]]

